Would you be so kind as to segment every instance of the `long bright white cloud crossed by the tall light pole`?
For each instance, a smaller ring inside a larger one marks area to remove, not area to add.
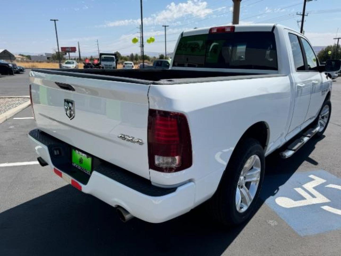
[[[212,9],[207,8],[207,2],[202,0],[187,0],[187,2],[175,4],[174,2],[168,4],[166,9],[152,14],[150,17],[143,19],[144,25],[160,25],[165,22],[172,22],[177,18],[185,16],[204,17],[212,13]],[[101,27],[116,27],[127,25],[139,25],[140,19],[123,19],[113,22],[106,22]]]

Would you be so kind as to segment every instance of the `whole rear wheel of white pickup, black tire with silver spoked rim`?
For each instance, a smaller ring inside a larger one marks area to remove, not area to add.
[[[247,221],[256,210],[265,170],[264,149],[251,138],[235,149],[220,185],[209,201],[214,219],[226,226]]]

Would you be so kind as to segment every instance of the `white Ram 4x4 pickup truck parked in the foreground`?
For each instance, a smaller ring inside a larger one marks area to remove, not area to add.
[[[39,162],[127,221],[165,222],[207,201],[252,216],[265,156],[292,156],[330,118],[332,81],[280,25],[184,31],[169,70],[33,69]]]

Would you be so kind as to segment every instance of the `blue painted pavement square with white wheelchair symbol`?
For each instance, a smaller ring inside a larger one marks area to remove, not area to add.
[[[300,236],[341,229],[341,179],[324,170],[266,176],[261,197]]]

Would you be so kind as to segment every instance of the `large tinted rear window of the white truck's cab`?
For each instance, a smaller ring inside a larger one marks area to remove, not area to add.
[[[182,37],[175,67],[277,70],[272,32],[232,32]]]

